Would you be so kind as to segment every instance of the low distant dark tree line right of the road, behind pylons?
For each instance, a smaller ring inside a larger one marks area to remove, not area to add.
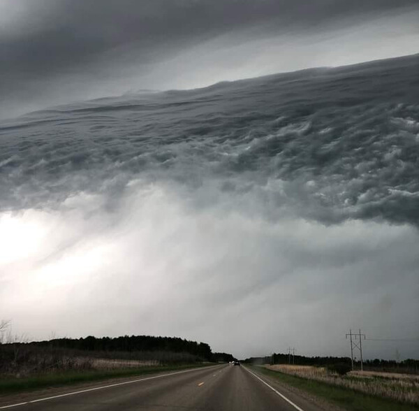
[[[300,366],[330,366],[335,363],[347,363],[351,364],[351,358],[347,356],[303,356],[292,354],[272,354],[268,356],[250,357],[244,360],[245,363],[253,364],[288,364],[295,363]],[[418,372],[419,360],[406,359],[404,361],[393,361],[393,360],[364,360],[362,361],[364,368],[382,370],[395,370],[402,368],[406,372]],[[359,368],[359,362],[356,362],[357,368]]]

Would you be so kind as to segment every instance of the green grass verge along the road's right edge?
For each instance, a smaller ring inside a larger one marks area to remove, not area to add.
[[[279,382],[291,385],[309,394],[313,394],[319,398],[323,398],[330,403],[338,405],[340,408],[348,411],[418,411],[414,405],[407,405],[390,401],[387,398],[378,398],[367,394],[336,387],[325,382],[309,380],[307,378],[288,375],[279,371],[267,370],[263,367],[251,366],[253,370],[269,377],[273,377]]]

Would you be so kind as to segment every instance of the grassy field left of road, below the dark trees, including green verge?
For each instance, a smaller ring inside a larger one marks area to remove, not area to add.
[[[203,359],[188,352],[103,352],[0,344],[0,396],[205,365]]]

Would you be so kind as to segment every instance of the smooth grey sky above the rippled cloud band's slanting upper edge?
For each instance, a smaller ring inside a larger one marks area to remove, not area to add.
[[[0,0],[0,118],[417,52],[415,0]]]

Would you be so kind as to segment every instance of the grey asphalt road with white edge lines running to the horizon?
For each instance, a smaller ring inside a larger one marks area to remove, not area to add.
[[[33,398],[41,401],[10,405],[13,410],[36,411],[321,410],[295,394],[284,395],[274,382],[243,366],[213,366],[105,386],[103,383],[84,391],[72,389],[58,397]],[[10,406],[0,409],[12,410]]]

